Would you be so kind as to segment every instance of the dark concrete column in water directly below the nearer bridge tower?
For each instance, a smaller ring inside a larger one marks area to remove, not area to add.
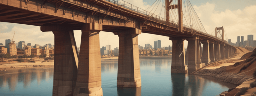
[[[172,39],[172,67],[171,73],[188,73],[185,64],[184,39]]]

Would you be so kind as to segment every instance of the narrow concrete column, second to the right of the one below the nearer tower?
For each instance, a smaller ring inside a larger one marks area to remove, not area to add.
[[[211,62],[210,60],[210,51],[209,51],[209,40],[201,41],[203,46],[203,53],[202,53],[202,63],[208,64]]]

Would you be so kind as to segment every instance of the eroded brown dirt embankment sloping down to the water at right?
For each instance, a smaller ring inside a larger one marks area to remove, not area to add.
[[[256,49],[250,52],[244,48],[236,47],[236,52],[230,58],[212,63],[208,67],[197,71],[194,75],[213,76],[221,81],[239,85],[235,90],[226,93],[226,96],[234,96],[240,91],[240,88],[249,87],[250,83],[255,81],[252,76],[255,70]],[[250,90],[254,89],[256,88],[249,89],[243,96],[250,96],[253,92]],[[221,96],[225,95],[222,94]]]

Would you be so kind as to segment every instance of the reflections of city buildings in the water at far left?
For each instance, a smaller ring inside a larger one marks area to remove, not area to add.
[[[51,77],[53,77],[53,68],[3,71],[0,72],[0,89],[4,90],[5,88],[9,88],[9,91],[15,92],[20,83],[23,84],[24,89],[28,89],[32,86],[31,83],[34,80],[37,81],[37,85],[40,85],[42,80],[46,79],[46,81],[48,81]]]

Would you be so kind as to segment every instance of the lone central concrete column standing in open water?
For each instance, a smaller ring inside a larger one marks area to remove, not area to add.
[[[139,29],[114,33],[119,37],[117,87],[141,87]]]

